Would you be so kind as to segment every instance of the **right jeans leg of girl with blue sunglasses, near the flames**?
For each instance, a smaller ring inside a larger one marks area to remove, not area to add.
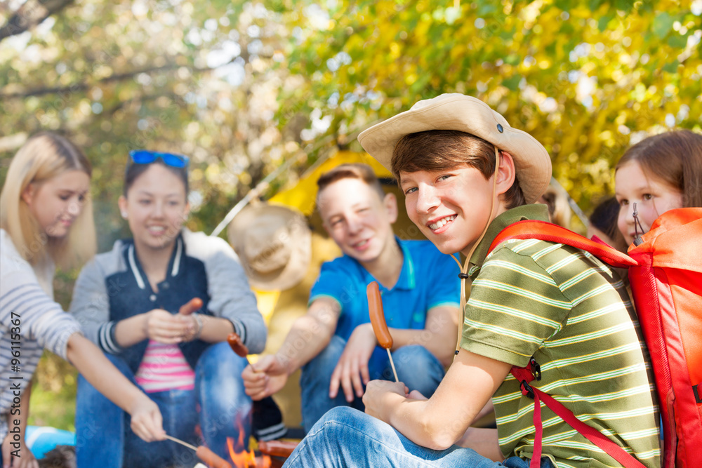
[[[237,452],[249,448],[252,403],[241,379],[247,364],[227,342],[220,342],[208,347],[195,367],[202,435],[208,448],[225,459],[229,459],[227,437]]]

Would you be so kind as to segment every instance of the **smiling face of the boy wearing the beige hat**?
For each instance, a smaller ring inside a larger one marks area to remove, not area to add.
[[[399,176],[412,222],[442,253],[467,255],[494,218],[490,213],[493,178],[486,180],[469,166],[439,172],[400,172]],[[504,209],[498,206],[498,213]]]

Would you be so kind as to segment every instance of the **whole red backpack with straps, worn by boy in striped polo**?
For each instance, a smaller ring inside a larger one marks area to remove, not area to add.
[[[543,221],[516,222],[503,229],[489,251],[508,239],[541,239],[586,250],[603,262],[629,269],[637,316],[651,355],[663,417],[663,467],[694,468],[702,460],[702,208],[669,210],[625,255],[607,244]],[[644,465],[570,410],[531,387],[540,378],[536,363],[512,368],[522,393],[534,398],[534,457],[541,459],[541,404],[623,467]]]

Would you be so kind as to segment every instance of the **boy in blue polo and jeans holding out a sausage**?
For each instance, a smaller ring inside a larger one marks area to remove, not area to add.
[[[370,380],[393,380],[390,361],[370,323],[366,286],[378,281],[393,338],[399,380],[430,396],[456,347],[458,266],[429,241],[392,232],[397,199],[373,170],[345,164],[322,175],[317,208],[343,256],[322,265],[307,314],[293,323],[276,354],[244,370],[254,400],[278,392],[302,368],[302,414],[309,430],[336,406],[363,409]]]

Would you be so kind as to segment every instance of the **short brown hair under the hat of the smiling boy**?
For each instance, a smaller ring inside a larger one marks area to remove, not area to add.
[[[444,171],[456,166],[476,168],[489,180],[495,172],[495,146],[470,133],[456,130],[429,130],[405,135],[392,152],[392,173]],[[515,183],[505,192],[507,208],[527,203],[515,175]]]

